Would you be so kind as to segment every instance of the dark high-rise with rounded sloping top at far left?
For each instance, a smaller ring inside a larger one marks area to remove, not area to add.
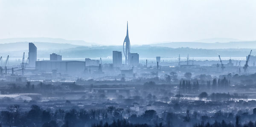
[[[34,43],[29,43],[29,66],[35,67],[35,61],[37,59],[37,47]]]

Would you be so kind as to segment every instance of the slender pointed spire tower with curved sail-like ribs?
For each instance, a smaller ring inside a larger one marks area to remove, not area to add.
[[[129,39],[129,35],[128,35],[128,21],[127,21],[126,36],[125,36],[125,40],[124,40],[124,43],[123,43],[123,51],[124,51],[124,55],[125,55],[125,64],[128,64],[129,63],[128,54],[131,51],[131,49],[130,49],[130,39]]]

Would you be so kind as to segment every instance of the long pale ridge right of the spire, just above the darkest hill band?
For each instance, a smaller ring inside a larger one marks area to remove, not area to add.
[[[194,49],[250,49],[256,47],[256,41],[237,41],[227,43],[202,43],[202,42],[169,42],[169,43],[157,43],[150,46],[181,48],[189,47]]]

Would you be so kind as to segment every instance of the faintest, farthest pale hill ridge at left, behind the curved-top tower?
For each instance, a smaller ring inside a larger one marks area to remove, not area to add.
[[[15,42],[48,42],[48,43],[69,43],[73,45],[91,46],[95,43],[88,43],[84,40],[65,40],[62,38],[6,38],[0,39],[0,43],[15,43]]]

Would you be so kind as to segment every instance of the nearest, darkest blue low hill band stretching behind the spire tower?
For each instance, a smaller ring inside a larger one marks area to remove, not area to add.
[[[98,46],[98,47],[76,47],[65,49],[61,52],[63,58],[112,58],[112,51],[122,51],[122,46]],[[140,58],[155,58],[161,56],[164,58],[173,57],[246,57],[250,53],[250,49],[192,49],[192,48],[169,48],[169,47],[153,47],[153,46],[131,46],[132,53],[139,53]],[[43,53],[43,52],[42,52]],[[49,53],[42,54],[38,52],[40,57],[49,57]],[[46,52],[45,52],[46,53]],[[123,53],[122,53],[123,55]],[[253,49],[252,55],[256,55],[256,49]],[[124,56],[123,56],[124,57]]]

